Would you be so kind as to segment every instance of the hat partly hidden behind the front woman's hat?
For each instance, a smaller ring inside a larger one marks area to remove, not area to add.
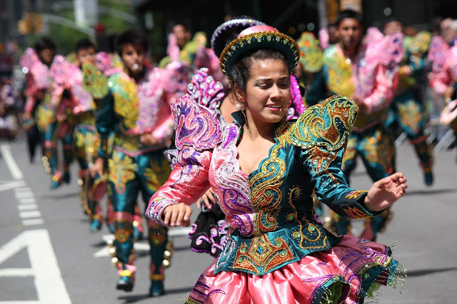
[[[224,51],[226,45],[233,41],[233,39],[236,39],[241,31],[256,25],[266,24],[264,24],[262,21],[258,21],[252,18],[235,18],[226,21],[220,26],[216,27],[213,35],[211,36],[211,49],[213,49],[214,54],[216,54],[217,58],[221,56],[221,53]]]

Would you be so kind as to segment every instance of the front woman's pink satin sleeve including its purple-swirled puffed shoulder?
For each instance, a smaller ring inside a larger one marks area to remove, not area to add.
[[[199,106],[187,94],[173,103],[171,112],[178,159],[169,180],[152,196],[146,210],[148,218],[161,224],[164,224],[162,214],[167,206],[191,205],[209,189],[212,151],[222,137],[219,115]]]

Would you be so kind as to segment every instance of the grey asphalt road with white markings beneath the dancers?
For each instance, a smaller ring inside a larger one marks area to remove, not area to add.
[[[0,304],[184,303],[211,256],[189,249],[186,229],[174,228],[176,251],[166,270],[166,295],[149,298],[147,242],[136,243],[136,285],[115,289],[104,226],[89,232],[79,203],[77,167],[69,185],[51,191],[41,161],[29,163],[24,141],[0,142]],[[378,303],[457,303],[457,163],[455,151],[436,153],[435,183],[423,186],[416,156],[408,144],[398,148],[398,170],[408,178],[408,193],[393,206],[394,217],[379,243],[391,245],[408,269],[399,291],[381,288]],[[370,186],[363,166],[354,188]],[[196,208],[194,208],[196,211]],[[194,212],[193,219],[197,212]],[[354,224],[354,232],[361,222]]]

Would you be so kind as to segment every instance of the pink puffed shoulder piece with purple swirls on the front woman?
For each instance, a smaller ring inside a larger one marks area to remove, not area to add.
[[[189,94],[178,98],[171,105],[176,148],[191,146],[197,151],[214,148],[222,140],[219,114],[200,106]]]

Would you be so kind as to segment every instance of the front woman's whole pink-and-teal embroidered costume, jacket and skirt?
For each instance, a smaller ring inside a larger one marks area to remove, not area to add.
[[[342,294],[357,302],[372,283],[393,280],[398,262],[389,248],[336,237],[313,217],[313,191],[342,216],[378,214],[365,208],[366,191],[349,188],[340,168],[357,113],[352,101],[333,96],[278,123],[268,157],[249,175],[237,159],[240,112],[221,126],[217,113],[189,95],[172,111],[179,155],[146,216],[164,223],[166,206],[190,205],[211,187],[229,225],[228,243],[186,303],[320,303]],[[260,279],[262,292],[249,293]]]

